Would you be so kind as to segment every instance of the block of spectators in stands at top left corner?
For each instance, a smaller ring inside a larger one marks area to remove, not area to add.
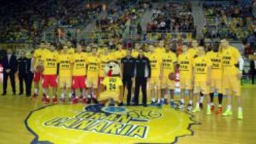
[[[43,31],[51,26],[84,24],[102,11],[102,4],[96,2],[94,4],[87,4],[83,0],[10,2],[0,8],[0,40],[1,42],[38,42]]]

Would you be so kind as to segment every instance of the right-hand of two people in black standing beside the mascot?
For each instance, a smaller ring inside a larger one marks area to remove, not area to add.
[[[146,82],[151,75],[151,67],[149,64],[149,59],[144,56],[143,50],[139,50],[139,56],[135,61],[135,94],[134,101],[135,105],[139,104],[139,88],[142,86],[142,101],[143,106],[146,106]]]

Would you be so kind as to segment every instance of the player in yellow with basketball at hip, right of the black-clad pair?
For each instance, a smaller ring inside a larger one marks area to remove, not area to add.
[[[174,108],[174,88],[175,88],[175,82],[174,80],[169,79],[169,74],[176,72],[176,64],[177,64],[177,57],[174,52],[171,52],[169,48],[165,48],[165,52],[161,55],[163,61],[162,61],[162,67],[163,67],[163,75],[161,77],[161,94],[162,97],[165,95],[168,95],[169,92],[171,94],[171,101],[170,105],[172,108]],[[168,92],[169,91],[169,92]],[[164,99],[164,103],[168,104],[167,98]]]

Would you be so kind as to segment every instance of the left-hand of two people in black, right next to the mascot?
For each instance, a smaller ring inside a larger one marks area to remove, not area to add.
[[[127,55],[121,59],[122,82],[127,87],[127,106],[131,104],[132,79],[134,78],[135,58],[132,57],[132,50],[127,50]],[[122,104],[122,103],[121,103]]]

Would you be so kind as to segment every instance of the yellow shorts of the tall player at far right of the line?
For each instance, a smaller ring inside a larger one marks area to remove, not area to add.
[[[224,95],[241,95],[240,79],[235,74],[228,74],[223,76],[223,94]]]

